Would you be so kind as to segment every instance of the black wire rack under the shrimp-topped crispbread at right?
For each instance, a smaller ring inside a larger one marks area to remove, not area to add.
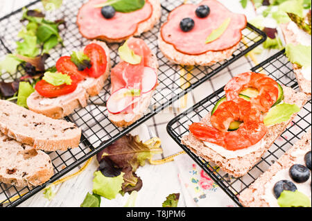
[[[268,58],[268,60],[262,62],[257,67],[252,68],[252,71],[267,73],[281,85],[299,90],[295,73],[293,72],[293,65],[288,62],[288,59],[284,55],[284,50],[273,55],[271,58]],[[188,125],[191,125],[191,123],[194,122],[199,122],[201,118],[211,112],[216,102],[223,96],[225,96],[223,88],[218,89],[218,91],[207,96],[207,98],[201,100],[187,111],[175,117],[168,123],[167,131],[175,142],[177,142],[212,179],[214,179],[218,186],[223,188],[223,191],[225,191],[236,204],[242,206],[237,195],[245,190],[245,188],[248,188],[257,177],[268,170],[272,163],[291,148],[291,146],[311,127],[311,100],[304,105],[294,119],[293,124],[281,134],[252,170],[243,177],[235,178],[220,170],[220,168],[214,163],[210,163],[209,161],[205,161],[205,159],[196,156],[196,154],[191,152],[189,148],[181,143],[182,136],[189,134]]]

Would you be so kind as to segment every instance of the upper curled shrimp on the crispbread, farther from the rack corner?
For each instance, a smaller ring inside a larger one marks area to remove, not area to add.
[[[239,93],[249,87],[259,91],[259,95],[251,98],[250,103],[261,112],[268,112],[278,99],[279,89],[277,82],[263,73],[245,72],[232,78],[224,89],[227,100],[239,98]]]

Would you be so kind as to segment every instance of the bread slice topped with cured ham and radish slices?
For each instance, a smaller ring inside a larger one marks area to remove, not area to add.
[[[114,125],[135,123],[150,105],[158,84],[158,62],[144,40],[131,37],[119,48],[121,62],[111,72],[108,118]]]

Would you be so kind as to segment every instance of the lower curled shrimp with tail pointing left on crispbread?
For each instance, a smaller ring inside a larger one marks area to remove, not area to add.
[[[242,121],[238,130],[227,131],[232,121]],[[210,118],[211,125],[193,123],[190,132],[196,138],[223,146],[227,150],[241,150],[258,143],[268,132],[261,112],[241,98],[220,104]]]

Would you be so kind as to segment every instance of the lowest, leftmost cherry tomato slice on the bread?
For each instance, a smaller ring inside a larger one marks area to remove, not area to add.
[[[77,80],[73,80],[71,85],[60,85],[54,86],[46,82],[45,80],[40,80],[35,85],[35,90],[41,95],[46,98],[55,98],[58,96],[62,96],[65,94],[70,94],[71,92],[75,91],[78,86]]]

